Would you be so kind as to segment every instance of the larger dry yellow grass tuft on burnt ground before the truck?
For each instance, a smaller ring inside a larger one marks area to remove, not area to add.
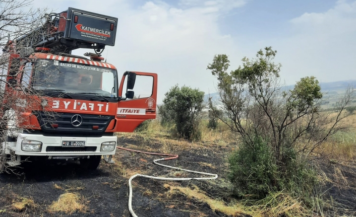
[[[83,197],[78,193],[64,193],[60,195],[57,201],[53,201],[48,206],[47,211],[50,213],[65,212],[72,214],[74,212],[86,212],[87,206],[84,204]]]

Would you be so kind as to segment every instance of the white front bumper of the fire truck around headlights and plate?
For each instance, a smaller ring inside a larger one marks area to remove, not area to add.
[[[28,152],[21,150],[22,140],[35,140],[42,142],[40,152]],[[85,141],[85,147],[62,147],[63,141]],[[112,152],[100,152],[101,143],[117,141],[116,136],[101,137],[64,137],[44,136],[40,134],[20,133],[16,142],[9,142],[8,151],[15,151],[15,155],[22,156],[90,156],[90,155],[114,155]]]

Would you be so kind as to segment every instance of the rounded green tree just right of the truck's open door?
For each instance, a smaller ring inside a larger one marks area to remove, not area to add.
[[[165,121],[174,121],[179,136],[200,139],[199,120],[203,98],[204,92],[198,89],[175,85],[165,94],[159,113]]]

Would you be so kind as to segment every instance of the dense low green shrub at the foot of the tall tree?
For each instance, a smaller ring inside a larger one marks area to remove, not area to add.
[[[261,199],[271,192],[286,190],[310,202],[316,174],[305,162],[298,161],[292,149],[285,150],[284,156],[285,165],[278,165],[268,141],[260,136],[255,136],[252,143],[241,143],[228,158],[228,178],[234,194]]]

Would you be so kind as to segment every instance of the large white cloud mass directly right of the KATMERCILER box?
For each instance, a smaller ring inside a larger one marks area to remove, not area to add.
[[[103,56],[119,74],[126,70],[158,74],[158,102],[175,84],[214,92],[214,78],[206,70],[214,54],[233,50],[234,42],[219,30],[220,15],[242,7],[245,0],[181,0],[177,6],[163,1],[130,0],[48,1],[36,0],[35,7],[64,11],[68,7],[118,18],[114,47],[106,47]],[[76,50],[83,54],[86,50]]]

